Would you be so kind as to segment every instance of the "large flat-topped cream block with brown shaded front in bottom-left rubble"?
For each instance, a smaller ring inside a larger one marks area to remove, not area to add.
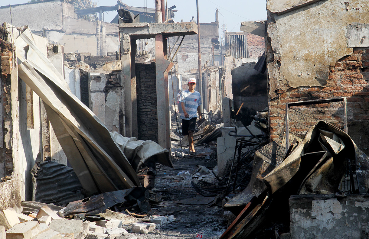
[[[30,239],[39,233],[38,222],[17,224],[6,232],[6,239]]]

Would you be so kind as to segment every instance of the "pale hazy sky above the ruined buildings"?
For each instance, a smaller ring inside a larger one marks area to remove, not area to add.
[[[114,6],[116,0],[93,0],[97,6]],[[155,8],[155,0],[122,0],[128,6]],[[176,5],[175,21],[190,21],[196,16],[196,0],[166,0],[169,7]],[[0,6],[27,3],[27,0],[0,0]],[[219,24],[227,24],[228,31],[239,31],[241,21],[266,20],[266,0],[199,0],[200,23],[215,21],[215,8],[219,9]],[[104,14],[110,22],[116,12]],[[221,27],[220,27],[221,31]],[[219,32],[219,35],[222,33]]]

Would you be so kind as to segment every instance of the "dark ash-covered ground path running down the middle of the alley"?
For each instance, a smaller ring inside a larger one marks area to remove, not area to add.
[[[174,215],[176,221],[164,225],[159,230],[150,232],[147,235],[135,234],[138,239],[182,239],[196,238],[197,234],[203,235],[203,238],[219,238],[227,227],[227,222],[223,217],[224,210],[216,205],[186,205],[179,201],[193,198],[197,192],[191,186],[191,180],[183,179],[163,179],[163,177],[177,176],[177,173],[189,171],[191,174],[198,167],[196,165],[206,166],[213,169],[217,165],[216,148],[212,148],[214,153],[210,159],[205,157],[172,158],[175,169],[165,166],[159,166],[155,179],[155,188],[153,191],[162,194],[161,204],[152,206],[154,215]],[[187,200],[186,200],[187,201]],[[145,221],[145,220],[144,220]],[[126,228],[130,232],[130,228]]]

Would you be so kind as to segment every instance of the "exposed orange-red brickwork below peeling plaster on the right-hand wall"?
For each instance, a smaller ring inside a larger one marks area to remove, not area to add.
[[[348,133],[359,148],[369,153],[369,48],[354,49],[352,55],[345,56],[334,66],[330,66],[325,87],[304,86],[290,88],[287,91],[276,90],[276,93],[279,98],[272,99],[269,104],[272,140],[279,138],[281,133],[287,102],[346,96]],[[343,122],[343,110],[338,104],[310,105],[306,106],[306,110],[304,107],[300,107],[299,110],[314,118]]]

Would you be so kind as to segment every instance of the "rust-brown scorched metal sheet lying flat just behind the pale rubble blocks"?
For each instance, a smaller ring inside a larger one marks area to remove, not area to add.
[[[70,202],[65,208],[59,211],[63,217],[69,217],[76,214],[85,214],[86,216],[90,216],[104,212],[106,212],[106,210],[102,194]]]

